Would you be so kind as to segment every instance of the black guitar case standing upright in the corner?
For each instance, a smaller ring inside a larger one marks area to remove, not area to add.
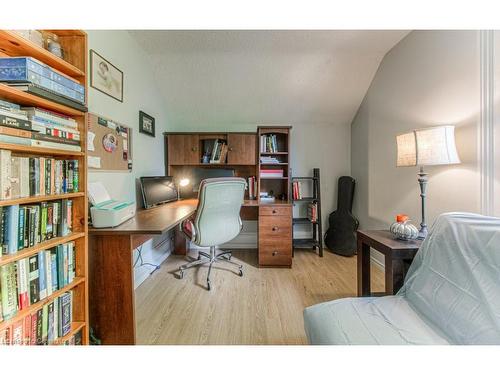
[[[339,178],[337,211],[330,214],[329,228],[325,234],[328,249],[343,256],[356,254],[356,230],[359,221],[352,215],[355,184],[356,181],[350,176]]]

